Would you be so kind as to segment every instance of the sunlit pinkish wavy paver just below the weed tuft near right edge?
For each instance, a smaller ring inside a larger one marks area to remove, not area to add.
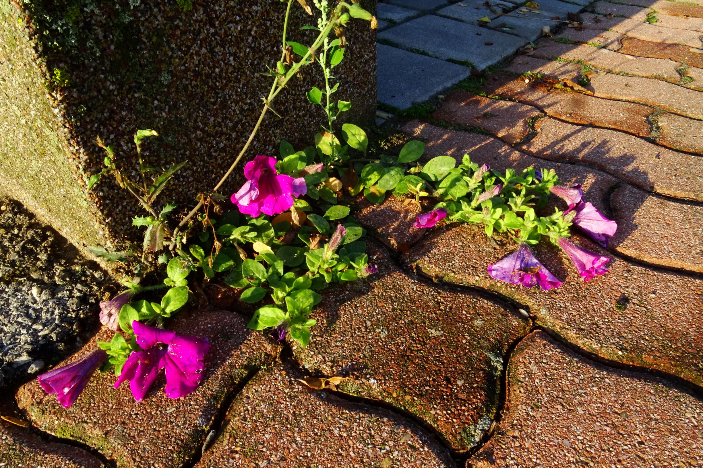
[[[595,96],[653,105],[675,114],[703,119],[703,93],[658,79],[601,74],[591,78]]]

